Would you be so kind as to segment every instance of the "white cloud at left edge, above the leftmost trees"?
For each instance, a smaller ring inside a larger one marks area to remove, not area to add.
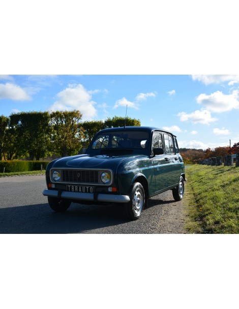
[[[31,97],[26,91],[14,84],[0,84],[0,99],[11,99],[16,101],[30,100]]]

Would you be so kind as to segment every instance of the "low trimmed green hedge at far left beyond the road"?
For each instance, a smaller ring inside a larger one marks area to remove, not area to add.
[[[15,171],[31,171],[46,169],[49,162],[47,161],[23,161],[23,160],[12,160],[12,161],[0,161],[0,173],[3,173],[5,167],[5,173],[13,173]]]

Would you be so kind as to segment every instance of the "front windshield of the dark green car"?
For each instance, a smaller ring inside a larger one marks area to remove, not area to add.
[[[102,150],[134,150],[145,149],[149,144],[148,132],[144,131],[114,131],[99,134],[92,142],[91,149]]]

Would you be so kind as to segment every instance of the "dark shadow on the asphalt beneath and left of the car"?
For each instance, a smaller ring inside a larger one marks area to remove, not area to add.
[[[84,233],[129,222],[118,205],[79,205],[72,203],[64,213],[49,205],[35,204],[0,209],[1,234]]]

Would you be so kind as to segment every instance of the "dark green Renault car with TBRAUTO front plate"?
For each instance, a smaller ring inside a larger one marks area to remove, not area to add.
[[[153,127],[118,127],[99,131],[84,154],[50,162],[43,195],[54,211],[66,211],[73,201],[121,203],[136,220],[154,195],[172,190],[181,200],[184,181],[175,135]]]

